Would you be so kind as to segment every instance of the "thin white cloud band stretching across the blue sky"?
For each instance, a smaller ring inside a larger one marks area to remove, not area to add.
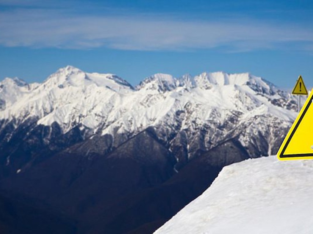
[[[188,21],[161,16],[86,15],[67,10],[18,9],[0,12],[0,45],[119,50],[228,51],[284,48],[308,50],[313,31],[288,23],[251,19]]]

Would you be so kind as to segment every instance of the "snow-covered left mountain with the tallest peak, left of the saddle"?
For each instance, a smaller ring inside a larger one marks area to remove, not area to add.
[[[16,85],[11,79],[3,81],[3,100],[11,105],[3,108],[0,119],[22,121],[36,116],[38,124],[57,122],[64,132],[79,123],[95,129],[103,120],[99,115],[106,115],[121,96],[133,89],[113,74],[85,73],[72,66],[59,69],[33,90],[26,86]],[[9,94],[13,98],[6,98]]]

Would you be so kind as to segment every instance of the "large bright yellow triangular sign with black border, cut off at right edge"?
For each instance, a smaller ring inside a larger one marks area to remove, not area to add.
[[[313,90],[281,144],[280,160],[313,159]]]

